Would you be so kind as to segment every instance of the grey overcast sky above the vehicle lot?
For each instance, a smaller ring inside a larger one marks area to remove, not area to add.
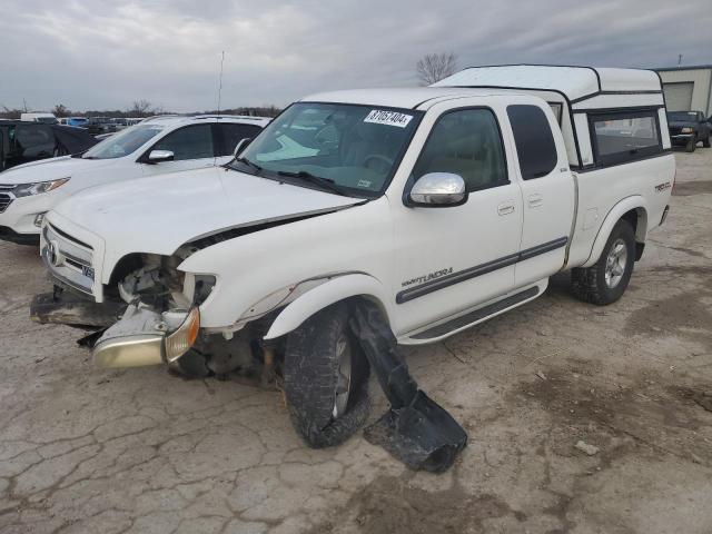
[[[581,6],[580,6],[581,3]],[[345,88],[414,86],[415,62],[459,67],[712,63],[710,0],[2,0],[0,106],[284,106]]]

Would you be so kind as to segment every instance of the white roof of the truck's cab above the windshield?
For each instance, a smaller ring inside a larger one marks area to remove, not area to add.
[[[353,89],[319,92],[303,98],[303,102],[338,102],[386,108],[425,109],[426,103],[457,97],[487,97],[497,95],[492,89],[462,89],[451,87],[413,87],[386,89]]]

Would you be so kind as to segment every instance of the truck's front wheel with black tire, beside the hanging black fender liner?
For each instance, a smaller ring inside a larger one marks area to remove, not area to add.
[[[337,389],[339,374],[346,374],[346,360],[350,363],[350,380],[346,387],[342,379]],[[369,406],[368,370],[348,327],[346,303],[323,309],[287,336],[287,406],[295,429],[309,446],[338,445],[364,424]],[[345,388],[346,397],[343,393],[337,396]]]

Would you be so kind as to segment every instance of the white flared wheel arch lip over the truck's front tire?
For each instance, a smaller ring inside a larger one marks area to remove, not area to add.
[[[363,274],[345,275],[322,284],[289,304],[271,324],[265,339],[275,339],[289,334],[317,312],[356,296],[375,300],[388,317],[388,312],[383,305],[387,301],[386,291],[380,281]]]

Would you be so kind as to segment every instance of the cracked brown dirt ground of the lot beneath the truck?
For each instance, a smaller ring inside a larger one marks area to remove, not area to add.
[[[578,303],[561,276],[406,350],[471,436],[444,475],[360,435],[310,451],[276,393],[92,367],[76,330],[28,319],[37,251],[0,245],[0,532],[709,534],[712,150],[676,158],[671,216],[621,301]]]

